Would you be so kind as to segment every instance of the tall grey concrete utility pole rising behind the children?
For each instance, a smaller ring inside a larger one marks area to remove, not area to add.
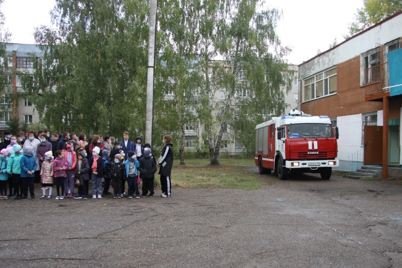
[[[145,117],[145,142],[152,146],[152,122],[154,109],[154,72],[155,72],[155,37],[157,0],[151,0],[149,8],[149,38],[148,38],[148,75],[147,103]]]

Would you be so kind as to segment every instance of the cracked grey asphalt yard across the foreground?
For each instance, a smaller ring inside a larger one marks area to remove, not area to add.
[[[259,190],[173,188],[171,198],[0,200],[0,263],[402,267],[400,180],[259,178]]]

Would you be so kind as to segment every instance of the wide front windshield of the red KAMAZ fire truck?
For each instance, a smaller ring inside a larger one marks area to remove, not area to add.
[[[331,124],[289,124],[288,138],[334,138]]]

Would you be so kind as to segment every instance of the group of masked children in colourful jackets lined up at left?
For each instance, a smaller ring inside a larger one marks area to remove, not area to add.
[[[124,136],[126,133],[128,137],[128,132],[125,132]],[[152,155],[150,145],[142,145],[141,141],[137,144],[137,138],[136,146],[133,146],[134,143],[128,139],[124,139],[121,143],[116,142],[111,150],[93,146],[90,148],[92,150],[89,150],[91,157],[87,155],[84,148],[71,141],[65,142],[63,149],[55,151],[54,154],[52,151],[46,152],[40,161],[41,199],[51,199],[53,187],[55,187],[56,200],[66,197],[86,200],[89,193],[89,180],[91,180],[93,199],[112,195],[108,191],[109,185],[106,185],[111,181],[114,188],[113,198],[123,198],[126,181],[128,197],[140,198],[138,185],[141,179],[142,197],[146,197],[148,193],[150,197],[154,197],[154,174],[157,170],[157,161]],[[97,143],[96,140],[93,144],[95,143]],[[12,188],[15,192],[15,197],[13,193],[10,193],[12,197],[28,199],[29,188],[31,199],[35,200],[34,173],[37,170],[37,162],[34,153],[32,147],[24,146],[22,149],[18,144],[0,151],[0,199],[8,199],[7,182],[9,181],[13,184]],[[102,189],[103,180],[105,181],[104,190]],[[76,195],[74,195],[75,186],[78,188]]]

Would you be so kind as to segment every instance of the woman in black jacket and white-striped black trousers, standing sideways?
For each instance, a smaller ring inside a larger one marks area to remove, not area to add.
[[[171,181],[170,173],[173,167],[173,144],[172,136],[163,136],[163,148],[161,152],[161,157],[158,160],[159,174],[160,174],[160,185],[162,188],[161,197],[170,197],[171,192]]]

